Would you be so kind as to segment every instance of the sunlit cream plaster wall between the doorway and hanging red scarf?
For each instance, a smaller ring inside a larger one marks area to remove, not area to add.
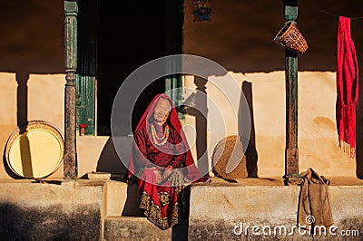
[[[250,86],[251,109],[233,110],[225,93],[212,82],[207,82],[206,95],[208,124],[206,126],[207,152],[211,161],[218,141],[241,133],[240,126],[249,124],[240,121],[240,111],[250,114],[250,141],[258,153],[259,177],[281,177],[284,175],[285,159],[285,73],[284,72],[229,72],[240,89],[229,92],[231,100],[241,100],[242,85]],[[223,82],[226,76],[211,76],[214,82]],[[185,78],[185,85],[196,88],[194,78]],[[231,96],[232,95],[232,96]],[[233,96],[234,95],[234,96]],[[188,99],[188,96],[186,97]],[[247,98],[249,99],[249,98]],[[351,159],[344,149],[338,147],[335,120],[336,82],[335,72],[299,72],[299,170],[309,167],[327,176],[355,176],[356,159]],[[198,105],[198,103],[196,103]],[[217,107],[217,108],[216,108]],[[240,101],[239,109],[243,108]],[[218,121],[216,116],[222,115]],[[187,117],[185,124],[195,126],[195,118]],[[221,122],[222,121],[222,122]],[[214,129],[214,132],[211,130]],[[199,141],[199,133],[187,131],[189,140]],[[243,135],[242,135],[243,136]],[[247,136],[248,137],[248,136]],[[191,145],[197,159],[196,145]],[[210,163],[211,165],[211,163]]]

